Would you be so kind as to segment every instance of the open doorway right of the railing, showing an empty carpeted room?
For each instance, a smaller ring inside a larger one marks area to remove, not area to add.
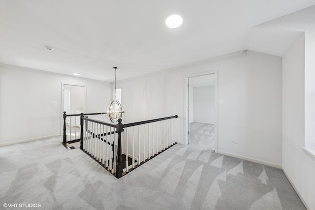
[[[217,74],[187,77],[187,143],[217,150]]]

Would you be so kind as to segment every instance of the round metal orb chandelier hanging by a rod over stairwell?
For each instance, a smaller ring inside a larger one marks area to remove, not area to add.
[[[117,123],[119,119],[122,119],[123,116],[123,106],[122,103],[116,99],[116,69],[117,67],[113,67],[115,69],[115,89],[114,89],[114,99],[109,104],[109,109],[106,113],[106,118],[113,123]]]

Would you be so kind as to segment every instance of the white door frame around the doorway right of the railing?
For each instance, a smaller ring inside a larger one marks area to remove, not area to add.
[[[184,95],[185,95],[185,103],[184,103],[184,118],[185,118],[185,126],[184,126],[184,136],[185,136],[185,144],[189,144],[189,78],[206,76],[209,74],[213,74],[215,77],[215,152],[218,152],[218,71],[206,71],[195,74],[185,75],[184,82]]]

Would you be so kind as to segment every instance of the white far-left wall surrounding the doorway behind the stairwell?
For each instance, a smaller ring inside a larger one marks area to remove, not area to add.
[[[88,113],[111,98],[110,83],[1,64],[0,145],[60,135],[62,83],[86,85]]]

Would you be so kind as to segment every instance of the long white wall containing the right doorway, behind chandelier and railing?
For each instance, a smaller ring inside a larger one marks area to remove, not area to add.
[[[126,122],[178,115],[174,138],[185,144],[185,75],[218,70],[218,150],[274,165],[282,159],[282,59],[249,51],[237,58],[119,81]],[[231,144],[231,139],[238,144]]]

